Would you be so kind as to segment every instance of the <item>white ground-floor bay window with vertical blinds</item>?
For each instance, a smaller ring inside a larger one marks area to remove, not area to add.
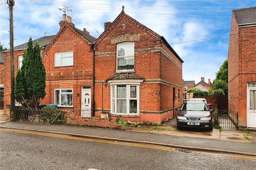
[[[139,114],[139,85],[111,85],[111,113]]]

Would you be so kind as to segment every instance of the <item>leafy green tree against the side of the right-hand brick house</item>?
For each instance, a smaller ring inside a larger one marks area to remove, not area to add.
[[[216,73],[216,79],[211,84],[212,90],[222,89],[225,94],[228,94],[228,60],[226,59]]]

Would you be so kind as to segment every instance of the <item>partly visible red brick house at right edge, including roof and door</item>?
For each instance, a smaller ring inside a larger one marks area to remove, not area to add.
[[[233,10],[228,52],[228,109],[256,128],[256,7]]]

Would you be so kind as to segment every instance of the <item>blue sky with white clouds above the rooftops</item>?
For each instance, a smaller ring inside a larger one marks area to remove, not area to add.
[[[9,8],[0,0],[0,43],[9,48]],[[62,11],[68,11],[76,28],[86,28],[99,37],[105,22],[112,22],[122,11],[164,36],[182,58],[183,79],[215,79],[227,58],[231,10],[256,6],[256,0],[15,0],[14,46],[45,35],[55,35]],[[205,40],[201,40],[205,39]],[[195,41],[194,41],[195,40]],[[189,42],[186,42],[189,41]]]

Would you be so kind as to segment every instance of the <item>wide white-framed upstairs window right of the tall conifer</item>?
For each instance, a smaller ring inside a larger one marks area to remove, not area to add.
[[[54,66],[72,66],[74,65],[73,52],[67,53],[55,53],[54,55]]]

